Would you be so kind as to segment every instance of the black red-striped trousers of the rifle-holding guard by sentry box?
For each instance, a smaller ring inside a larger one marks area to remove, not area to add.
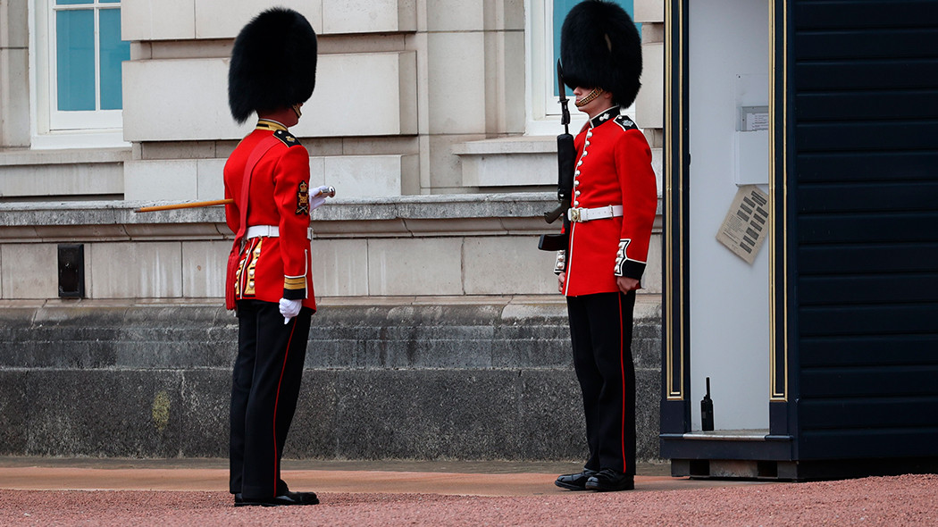
[[[634,291],[567,296],[590,470],[635,474],[634,308]]]

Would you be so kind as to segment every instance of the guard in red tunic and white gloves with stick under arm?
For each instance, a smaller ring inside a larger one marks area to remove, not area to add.
[[[228,77],[232,115],[257,126],[224,169],[228,226],[235,233],[225,299],[238,317],[231,400],[230,491],[235,505],[318,504],[280,479],[296,409],[310,317],[310,155],[288,127],[316,80],[316,34],[299,13],[269,9],[234,40]]]

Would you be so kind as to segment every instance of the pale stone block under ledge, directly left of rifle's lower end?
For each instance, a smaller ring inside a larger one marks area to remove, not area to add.
[[[556,253],[538,250],[535,236],[469,237],[463,251],[465,294],[556,292]]]

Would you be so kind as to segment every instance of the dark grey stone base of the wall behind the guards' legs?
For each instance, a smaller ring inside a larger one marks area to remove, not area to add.
[[[658,457],[659,306],[637,309],[639,456]],[[227,455],[236,320],[215,305],[0,307],[0,454]],[[285,452],[583,459],[565,307],[498,297],[324,301]]]

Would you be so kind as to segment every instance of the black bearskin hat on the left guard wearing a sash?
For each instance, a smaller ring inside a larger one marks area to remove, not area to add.
[[[316,32],[293,9],[267,9],[234,39],[228,105],[238,123],[306,102],[315,85]]]

